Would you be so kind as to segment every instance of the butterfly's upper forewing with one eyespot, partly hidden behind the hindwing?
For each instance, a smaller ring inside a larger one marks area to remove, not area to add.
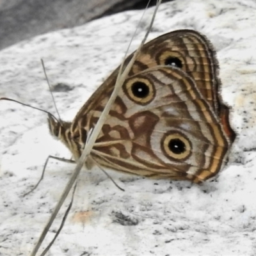
[[[132,54],[125,60],[125,65],[129,63],[131,58]],[[209,102],[214,113],[220,118],[229,140],[233,142],[236,136],[229,125],[229,108],[221,103],[221,97],[218,93],[220,87],[218,61],[209,40],[200,33],[188,29],[159,36],[143,45],[129,76],[159,65],[180,68],[194,79],[198,90]],[[106,79],[77,113],[71,127],[74,137],[88,132],[90,129],[88,120],[92,116],[97,116],[94,113],[95,111],[100,112],[104,109],[109,99],[107,95],[113,92],[118,69]]]

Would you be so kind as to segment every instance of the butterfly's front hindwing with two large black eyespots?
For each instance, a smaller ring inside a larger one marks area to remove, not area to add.
[[[200,182],[219,172],[229,147],[195,81],[179,68],[160,66],[126,79],[92,157],[123,172]]]

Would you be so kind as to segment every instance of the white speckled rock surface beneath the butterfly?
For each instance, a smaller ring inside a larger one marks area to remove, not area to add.
[[[180,0],[161,5],[150,33],[155,38],[195,29],[215,46],[221,93],[232,106],[231,123],[239,134],[228,167],[202,186],[109,171],[125,192],[97,168],[84,171],[72,212],[49,255],[255,255],[255,13],[252,0]],[[118,13],[1,51],[0,97],[55,113],[40,64],[44,58],[51,84],[65,84],[54,92],[61,117],[72,120],[122,60],[140,17],[141,12]],[[23,198],[49,154],[70,158],[70,153],[52,140],[44,113],[2,101],[0,118],[0,254],[29,255],[74,166],[51,161],[39,188]],[[43,247],[60,221],[61,214]]]

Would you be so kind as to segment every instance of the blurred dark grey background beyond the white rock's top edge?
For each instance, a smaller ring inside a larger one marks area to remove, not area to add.
[[[168,2],[173,0],[163,0]],[[24,39],[73,28],[125,10],[139,10],[148,0],[0,0],[0,50]],[[156,0],[150,1],[154,6]]]

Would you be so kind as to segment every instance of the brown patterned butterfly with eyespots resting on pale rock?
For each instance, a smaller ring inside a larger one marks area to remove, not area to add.
[[[51,134],[76,160],[117,74],[118,68],[73,122],[49,115]],[[145,177],[209,179],[227,162],[236,138],[219,89],[216,53],[205,36],[187,29],[159,36],[143,45],[90,156],[102,166]]]

